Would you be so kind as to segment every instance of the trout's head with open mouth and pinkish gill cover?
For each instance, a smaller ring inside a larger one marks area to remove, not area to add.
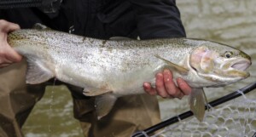
[[[252,64],[249,55],[221,43],[205,42],[189,56],[189,66],[207,87],[220,87],[250,76],[246,71]]]

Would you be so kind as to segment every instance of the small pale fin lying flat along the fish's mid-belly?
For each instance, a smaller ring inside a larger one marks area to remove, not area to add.
[[[96,96],[101,94],[111,93],[111,90],[106,88],[84,88],[83,94],[86,96]]]

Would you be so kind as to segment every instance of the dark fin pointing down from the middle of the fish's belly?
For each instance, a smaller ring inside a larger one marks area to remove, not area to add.
[[[96,96],[95,107],[97,118],[101,119],[106,116],[111,111],[116,100],[117,97],[111,93]]]

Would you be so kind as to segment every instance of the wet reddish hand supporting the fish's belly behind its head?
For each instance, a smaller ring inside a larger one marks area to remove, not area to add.
[[[162,73],[156,74],[155,88],[152,88],[150,83],[143,84],[144,90],[151,95],[158,94],[163,98],[178,98],[182,99],[184,95],[191,93],[189,84],[182,78],[177,78],[177,86],[172,81],[172,72],[165,69]]]

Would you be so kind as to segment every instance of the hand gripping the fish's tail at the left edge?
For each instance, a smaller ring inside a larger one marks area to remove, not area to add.
[[[8,33],[20,29],[20,26],[6,20],[0,20],[0,68],[19,62],[22,56],[7,43]]]

